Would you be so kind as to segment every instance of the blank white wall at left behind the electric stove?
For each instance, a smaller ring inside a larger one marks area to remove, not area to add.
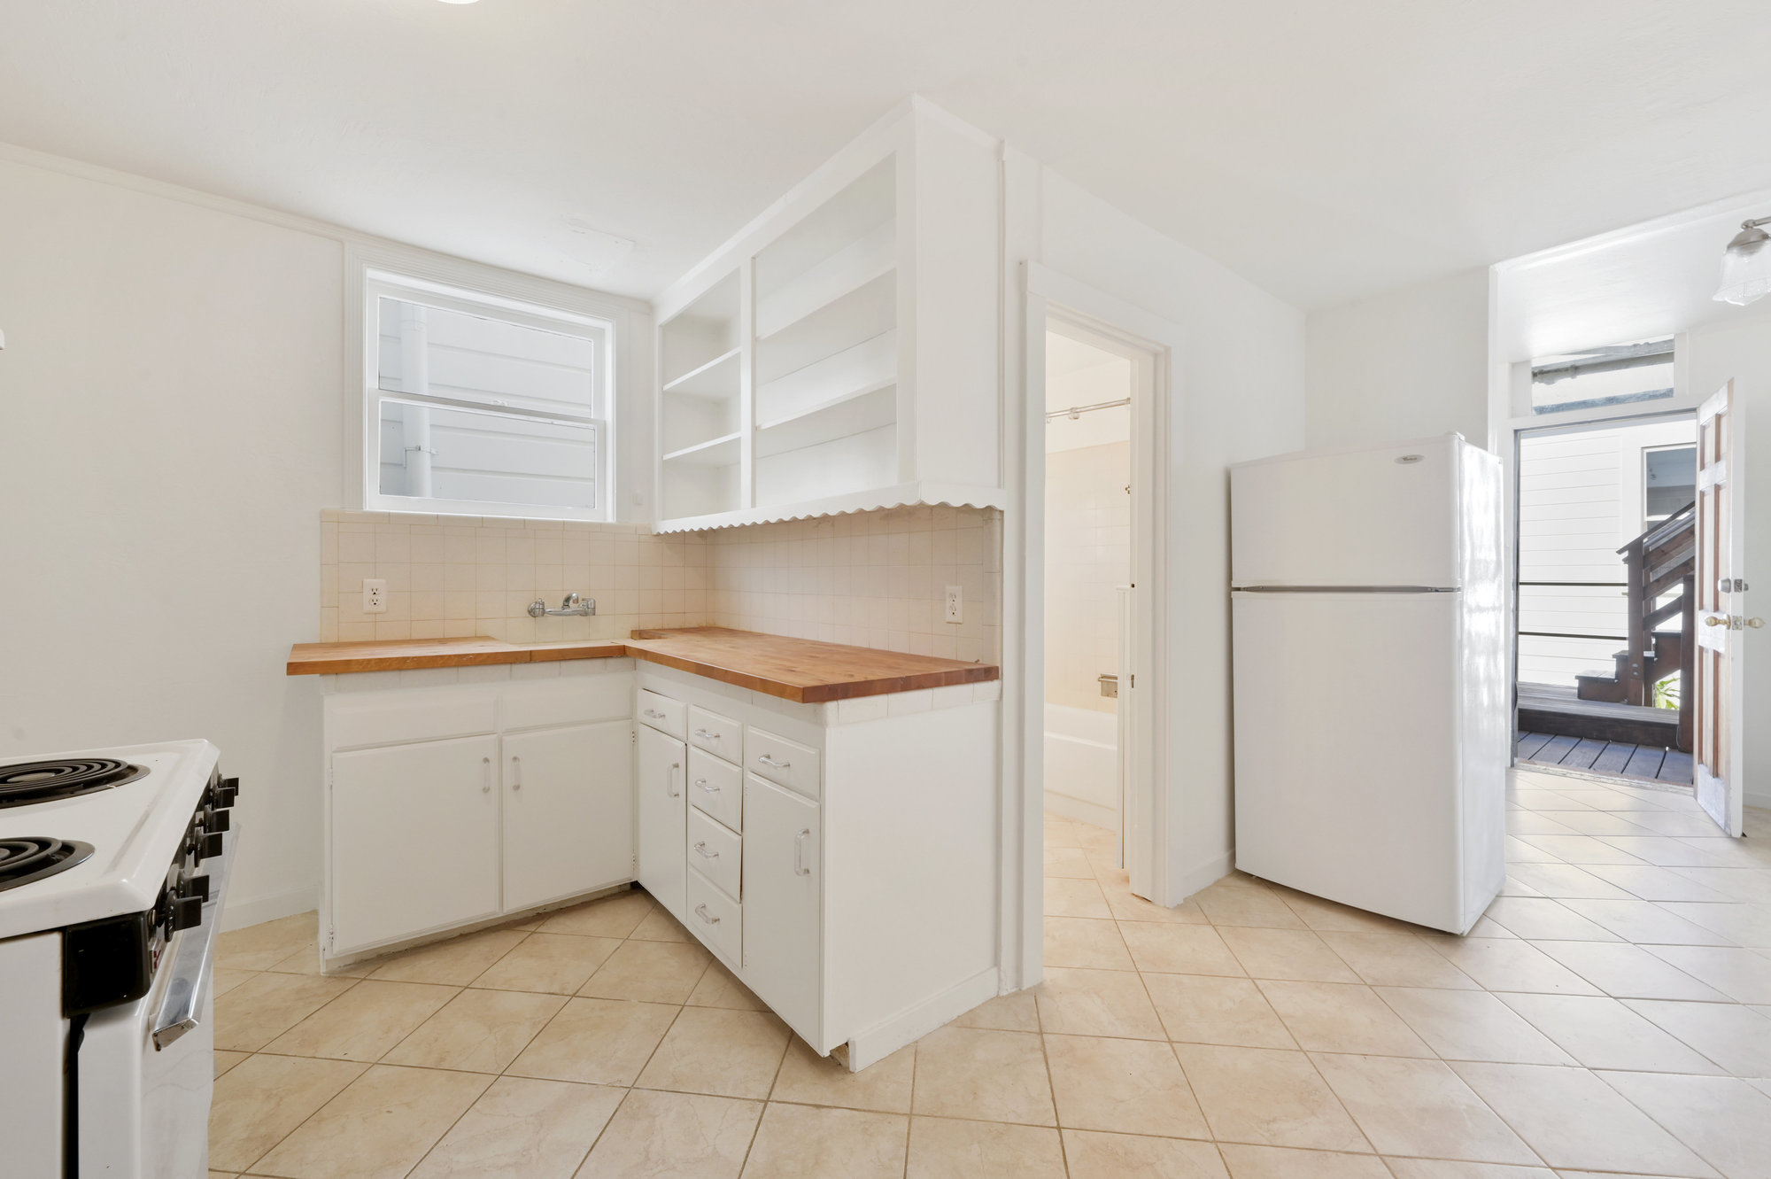
[[[312,905],[342,246],[0,161],[0,758],[205,736],[234,896]]]

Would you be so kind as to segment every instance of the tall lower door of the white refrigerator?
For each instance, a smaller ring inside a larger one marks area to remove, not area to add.
[[[1236,867],[1463,933],[1458,593],[1234,595]],[[1502,823],[1502,804],[1475,807]]]

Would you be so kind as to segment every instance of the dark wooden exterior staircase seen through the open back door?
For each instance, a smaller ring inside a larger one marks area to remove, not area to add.
[[[1617,651],[1610,674],[1576,676],[1578,699],[1635,705],[1654,703],[1654,683],[1679,674],[1677,747],[1691,751],[1691,667],[1697,655],[1697,505],[1667,517],[1617,551],[1624,559],[1629,605],[1628,646]],[[1656,602],[1674,590],[1679,597]],[[1677,628],[1667,627],[1677,620]]]

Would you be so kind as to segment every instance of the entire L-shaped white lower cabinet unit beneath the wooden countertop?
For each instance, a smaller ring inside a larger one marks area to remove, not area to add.
[[[850,1067],[997,995],[994,696],[797,705],[630,662],[406,674],[324,696],[326,967],[638,880]]]

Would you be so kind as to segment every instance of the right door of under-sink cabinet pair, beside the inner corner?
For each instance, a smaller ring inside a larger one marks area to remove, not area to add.
[[[505,910],[634,878],[634,728],[505,736]]]

